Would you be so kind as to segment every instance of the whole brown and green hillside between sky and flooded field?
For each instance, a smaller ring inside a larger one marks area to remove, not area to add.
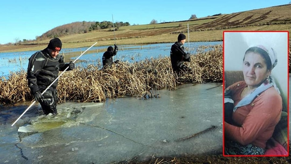
[[[115,24],[115,29],[118,28],[118,30],[115,30],[114,35],[112,22],[109,21],[74,22],[49,30],[36,40],[15,45],[0,45],[0,52],[38,50],[44,48],[54,37],[59,37],[67,48],[91,46],[95,42],[98,42],[99,46],[107,46],[112,45],[115,41],[118,45],[172,43],[176,40],[178,33],[188,32],[188,25],[191,42],[222,41],[222,33],[225,30],[291,32],[290,11],[291,4],[288,4],[231,14],[219,13],[176,22],[133,26],[129,26],[129,23],[125,22]]]

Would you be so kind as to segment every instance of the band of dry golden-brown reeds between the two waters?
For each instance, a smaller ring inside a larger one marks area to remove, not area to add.
[[[98,70],[100,65],[77,67],[59,78],[58,97],[60,102],[100,102],[112,97],[141,96],[152,88],[174,90],[181,83],[222,82],[222,45],[211,46],[212,50],[206,52],[205,48],[209,47],[200,47],[186,63],[194,73],[173,72],[170,57],[120,62],[107,70]],[[1,104],[32,99],[25,71],[11,73],[8,79],[1,77]]]

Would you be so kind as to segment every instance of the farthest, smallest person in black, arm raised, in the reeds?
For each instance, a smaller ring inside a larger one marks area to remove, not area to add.
[[[114,50],[112,46],[109,46],[107,48],[107,51],[105,53],[103,53],[102,56],[102,64],[103,64],[103,68],[109,68],[112,66],[113,64],[113,56],[115,56],[117,54],[118,51],[118,47],[116,46],[116,44],[114,44]],[[116,60],[114,63],[118,63],[119,60]]]

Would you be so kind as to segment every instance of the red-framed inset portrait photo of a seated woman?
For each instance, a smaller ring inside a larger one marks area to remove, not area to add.
[[[223,32],[223,156],[289,156],[289,32]]]

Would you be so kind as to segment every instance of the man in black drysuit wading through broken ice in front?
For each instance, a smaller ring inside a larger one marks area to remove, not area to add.
[[[49,45],[41,51],[34,53],[29,58],[27,69],[28,87],[31,94],[38,101],[44,114],[57,114],[57,85],[52,82],[58,77],[59,71],[73,70],[75,64],[64,63],[64,57],[59,55],[62,49],[62,42],[59,38],[54,38],[49,41]],[[41,93],[50,85],[51,87],[42,95]]]

